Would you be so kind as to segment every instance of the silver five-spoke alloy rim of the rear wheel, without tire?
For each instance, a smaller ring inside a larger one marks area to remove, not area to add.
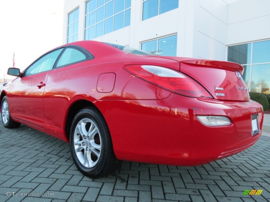
[[[73,146],[80,163],[87,168],[93,168],[99,162],[102,141],[96,123],[88,118],[77,123],[73,135]]]

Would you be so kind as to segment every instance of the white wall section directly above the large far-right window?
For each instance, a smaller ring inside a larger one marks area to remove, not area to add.
[[[227,45],[270,39],[269,8],[269,0],[241,0],[229,4]]]

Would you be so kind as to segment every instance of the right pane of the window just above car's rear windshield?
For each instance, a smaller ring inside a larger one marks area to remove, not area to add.
[[[177,35],[158,40],[158,55],[176,56]]]

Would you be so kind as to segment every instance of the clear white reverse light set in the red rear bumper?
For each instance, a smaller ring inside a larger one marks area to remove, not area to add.
[[[197,116],[206,126],[227,126],[231,121],[225,116]]]

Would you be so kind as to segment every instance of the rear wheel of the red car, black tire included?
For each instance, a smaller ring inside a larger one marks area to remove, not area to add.
[[[86,130],[83,132],[80,127]],[[94,132],[89,134],[89,131]],[[121,164],[114,155],[107,123],[96,107],[86,107],[76,114],[70,128],[69,145],[76,167],[88,177],[107,176]]]

